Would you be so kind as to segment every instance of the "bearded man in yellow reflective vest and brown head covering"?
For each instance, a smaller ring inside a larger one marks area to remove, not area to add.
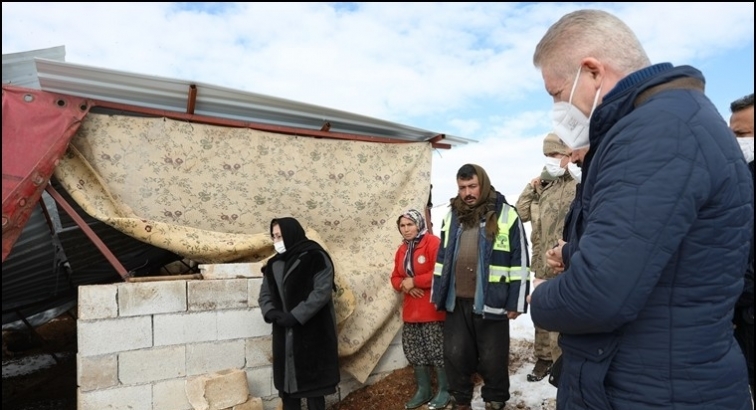
[[[509,400],[509,320],[526,312],[528,243],[514,207],[486,171],[465,164],[441,225],[431,301],[446,310],[444,367],[453,410],[470,410],[474,373],[486,410]]]

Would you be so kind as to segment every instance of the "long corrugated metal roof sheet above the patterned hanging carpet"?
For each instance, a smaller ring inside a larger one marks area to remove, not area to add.
[[[134,74],[48,59],[35,59],[42,90],[139,107],[186,112],[191,86],[197,88],[195,114],[276,126],[428,141],[441,132],[283,98],[185,80]],[[475,142],[445,134],[451,145]]]

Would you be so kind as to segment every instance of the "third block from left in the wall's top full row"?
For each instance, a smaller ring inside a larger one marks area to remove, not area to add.
[[[187,282],[190,311],[247,307],[247,279],[195,280]]]

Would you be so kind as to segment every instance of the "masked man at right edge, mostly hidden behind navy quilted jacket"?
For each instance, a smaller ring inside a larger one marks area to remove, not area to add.
[[[751,170],[751,177],[753,177],[753,93],[733,101],[730,104],[730,111],[732,112],[730,129],[737,137],[738,145],[743,151],[748,168]],[[743,348],[748,364],[748,384],[751,385],[751,396],[753,396],[753,234],[745,273],[745,285],[735,305],[733,324],[735,338]]]

